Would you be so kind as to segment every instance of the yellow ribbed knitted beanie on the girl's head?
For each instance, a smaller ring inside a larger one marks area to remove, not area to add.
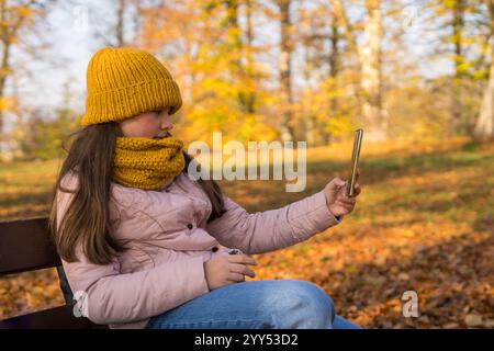
[[[151,54],[131,47],[104,47],[96,53],[87,71],[88,126],[120,122],[139,113],[182,105],[180,90],[170,72]]]

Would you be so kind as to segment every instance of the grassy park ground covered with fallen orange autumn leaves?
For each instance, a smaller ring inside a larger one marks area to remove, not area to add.
[[[277,208],[345,177],[351,145],[307,151],[307,186],[222,181],[250,212]],[[59,161],[1,165],[0,219],[46,215]],[[256,256],[256,280],[323,287],[339,315],[367,328],[494,327],[494,145],[465,139],[366,145],[362,193],[343,223]],[[415,291],[419,317],[402,314]],[[54,270],[0,279],[0,318],[63,304]]]

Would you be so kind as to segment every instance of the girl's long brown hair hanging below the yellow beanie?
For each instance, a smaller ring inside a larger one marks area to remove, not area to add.
[[[67,262],[77,261],[76,245],[81,240],[85,256],[96,264],[108,264],[116,252],[125,248],[111,236],[109,202],[113,170],[113,152],[116,137],[122,135],[115,122],[83,127],[64,140],[68,152],[53,188],[52,210],[48,227],[59,256]],[[67,147],[67,143],[70,145]],[[183,151],[184,171],[192,157]],[[75,190],[61,186],[64,177],[75,172],[78,186]],[[198,180],[212,203],[211,222],[225,213],[222,191],[214,180]],[[75,194],[57,230],[57,191]]]

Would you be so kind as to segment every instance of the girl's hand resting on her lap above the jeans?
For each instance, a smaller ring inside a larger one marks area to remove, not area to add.
[[[210,290],[223,285],[245,282],[245,275],[256,274],[248,265],[257,265],[256,260],[247,254],[220,254],[204,262],[204,274]]]

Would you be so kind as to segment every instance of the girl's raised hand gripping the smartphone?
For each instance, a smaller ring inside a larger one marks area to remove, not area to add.
[[[357,178],[358,178],[357,172]],[[356,197],[360,194],[360,185],[356,183],[353,197],[348,197],[346,195],[346,188],[349,185],[348,181],[344,181],[340,178],[333,179],[324,188],[324,194],[326,195],[326,204],[329,212],[336,216],[345,216],[353,211],[355,204],[357,203]]]

